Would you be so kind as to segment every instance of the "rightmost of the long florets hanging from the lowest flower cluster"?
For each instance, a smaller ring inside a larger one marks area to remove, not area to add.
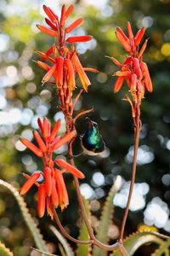
[[[69,197],[65,187],[63,174],[56,168],[54,169],[54,178],[59,195],[59,206],[61,207],[61,210],[63,210],[69,204]]]

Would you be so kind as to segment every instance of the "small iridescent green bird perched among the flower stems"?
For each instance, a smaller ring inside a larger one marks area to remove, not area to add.
[[[104,140],[99,133],[98,124],[86,118],[88,123],[88,129],[82,136],[82,149],[85,154],[97,155],[105,150]]]

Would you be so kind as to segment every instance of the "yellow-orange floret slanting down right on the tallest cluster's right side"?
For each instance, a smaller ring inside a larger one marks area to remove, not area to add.
[[[84,72],[81,62],[77,55],[72,57],[73,65],[78,73],[78,77],[81,81],[82,87],[85,91],[88,91],[88,85],[90,85],[90,80],[88,79],[87,74]]]

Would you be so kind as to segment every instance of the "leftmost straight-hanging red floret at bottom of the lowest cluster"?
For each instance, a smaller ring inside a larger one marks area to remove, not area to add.
[[[44,184],[41,184],[38,187],[38,192],[37,192],[37,215],[40,218],[42,218],[45,213],[45,201],[46,201],[45,187],[44,187]]]

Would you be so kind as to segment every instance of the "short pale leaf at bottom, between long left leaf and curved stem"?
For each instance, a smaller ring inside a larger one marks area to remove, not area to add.
[[[62,236],[54,226],[50,225],[49,229],[53,231],[54,235],[58,238],[61,245],[64,247],[66,255],[67,256],[74,256],[71,245],[68,243],[68,241],[66,241],[65,237]]]

